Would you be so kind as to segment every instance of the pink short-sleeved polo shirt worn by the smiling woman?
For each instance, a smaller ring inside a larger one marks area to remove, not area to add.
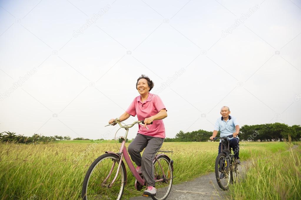
[[[138,120],[144,120],[145,118],[158,114],[162,109],[165,109],[165,106],[160,97],[156,94],[148,93],[146,102],[142,103],[141,96],[139,95],[133,100],[126,112],[134,117],[137,115]],[[140,124],[138,126],[138,133],[142,135],[165,138],[165,127],[162,119],[155,120],[153,124],[147,125],[149,130]]]

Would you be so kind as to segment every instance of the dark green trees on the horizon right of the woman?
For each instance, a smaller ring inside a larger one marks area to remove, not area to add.
[[[220,135],[218,132],[217,136]],[[245,141],[283,141],[291,136],[293,141],[301,140],[300,125],[288,126],[287,124],[258,124],[240,127],[239,139]],[[182,130],[175,138],[165,138],[164,142],[206,142],[212,136],[212,131],[197,130],[184,133]]]

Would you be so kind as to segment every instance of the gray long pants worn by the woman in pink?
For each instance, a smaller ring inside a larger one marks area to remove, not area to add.
[[[136,165],[141,166],[142,176],[147,186],[155,186],[153,160],[161,148],[163,140],[163,138],[145,136],[138,133],[129,145],[128,152]],[[140,153],[144,148],[145,150],[141,158]]]

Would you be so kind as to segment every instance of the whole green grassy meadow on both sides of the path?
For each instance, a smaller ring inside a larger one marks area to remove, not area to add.
[[[300,143],[296,143],[300,144]],[[128,146],[129,143],[126,143]],[[174,151],[174,184],[214,171],[218,142],[165,142]],[[50,144],[0,144],[0,199],[80,199],[91,163],[105,151],[119,150],[115,141],[58,141]],[[242,161],[252,163],[229,199],[301,199],[300,148],[286,142],[240,143]],[[124,199],[139,196],[128,173]]]

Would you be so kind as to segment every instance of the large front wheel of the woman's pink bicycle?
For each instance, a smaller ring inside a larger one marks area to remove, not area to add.
[[[126,167],[123,162],[113,186],[110,187],[119,165],[118,158],[115,154],[104,154],[92,163],[82,186],[83,200],[121,199],[126,184]]]

